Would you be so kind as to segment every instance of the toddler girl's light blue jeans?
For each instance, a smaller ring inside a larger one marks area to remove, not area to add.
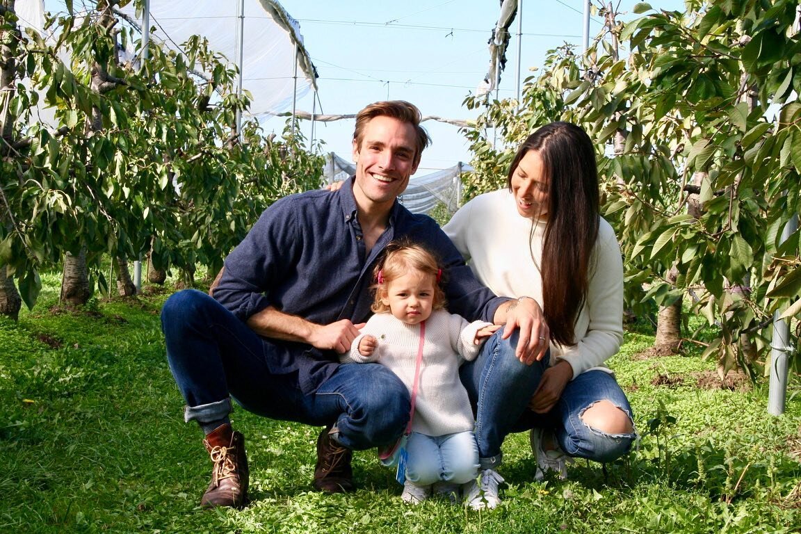
[[[426,436],[412,432],[406,442],[406,479],[418,486],[435,482],[465,484],[478,475],[478,448],[473,432]]]

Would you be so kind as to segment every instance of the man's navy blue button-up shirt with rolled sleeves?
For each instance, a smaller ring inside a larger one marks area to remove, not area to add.
[[[409,237],[440,256],[447,276],[448,309],[465,319],[492,322],[505,298],[481,285],[456,247],[427,215],[395,201],[389,225],[367,253],[356,217],[353,179],[336,193],[308,191],[273,203],[225,260],[214,297],[243,321],[273,306],[318,324],[350,319],[363,323],[372,312],[372,271],[392,239]],[[310,393],[339,364],[333,352],[304,343],[276,342],[268,361],[277,374],[298,372]]]

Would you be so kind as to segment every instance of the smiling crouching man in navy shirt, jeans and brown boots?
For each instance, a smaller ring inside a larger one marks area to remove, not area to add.
[[[520,343],[507,350],[522,363],[545,354],[537,304],[493,295],[433,219],[397,202],[429,144],[420,120],[409,102],[365,107],[356,116],[356,175],[348,185],[280,199],[228,255],[213,299],[186,290],[164,304],[167,358],[187,402],[185,419],[203,428],[214,464],[204,507],[247,502],[248,462],[244,436],[231,428],[231,397],[261,416],[325,427],[314,475],[323,492],[352,491],[352,451],[391,444],[403,432],[403,383],[377,363],[340,365],[336,357],[370,315],[372,267],[392,239],[407,236],[441,254],[450,311],[505,323],[504,339],[519,328]]]

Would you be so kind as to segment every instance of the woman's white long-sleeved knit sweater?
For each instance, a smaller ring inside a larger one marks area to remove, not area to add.
[[[443,230],[476,277],[496,295],[529,296],[542,305],[542,277],[537,265],[541,264],[545,223],[538,223],[532,235],[531,219],[517,212],[514,195],[508,189],[470,200]],[[565,359],[573,367],[574,377],[602,366],[620,349],[622,318],[620,246],[610,224],[601,219],[590,267],[590,289],[575,325],[577,343],[570,347],[552,344],[551,364]]]

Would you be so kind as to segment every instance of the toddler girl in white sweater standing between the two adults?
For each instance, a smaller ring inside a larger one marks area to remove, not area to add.
[[[341,355],[343,362],[385,365],[415,397],[401,495],[412,504],[428,498],[432,487],[457,502],[459,486],[476,479],[473,412],[459,366],[475,359],[481,341],[499,328],[445,311],[441,273],[424,247],[390,244],[376,267],[376,315],[353,340],[350,353]]]

